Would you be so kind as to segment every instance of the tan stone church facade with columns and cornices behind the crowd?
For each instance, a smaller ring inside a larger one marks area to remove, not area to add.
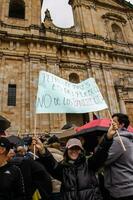
[[[1,0],[0,114],[11,132],[82,125],[86,114],[35,115],[38,74],[46,70],[71,82],[94,77],[111,113],[133,125],[133,5],[124,0],[69,0],[74,26],[59,28],[41,0]],[[108,117],[107,110],[97,113]],[[36,116],[36,117],[35,117]]]

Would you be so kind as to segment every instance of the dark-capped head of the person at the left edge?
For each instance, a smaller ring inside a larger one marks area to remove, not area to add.
[[[0,156],[6,156],[11,148],[11,144],[6,137],[0,137]]]

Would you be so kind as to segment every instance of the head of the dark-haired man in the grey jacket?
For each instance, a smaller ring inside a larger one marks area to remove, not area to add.
[[[130,124],[128,116],[123,113],[115,113],[112,118],[118,124],[118,128],[128,128]]]

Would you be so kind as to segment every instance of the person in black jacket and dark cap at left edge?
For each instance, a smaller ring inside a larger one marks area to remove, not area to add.
[[[25,190],[20,169],[7,162],[11,148],[5,137],[0,137],[0,200],[24,200]]]

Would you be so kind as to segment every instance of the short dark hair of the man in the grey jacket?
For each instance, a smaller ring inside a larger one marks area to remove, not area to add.
[[[123,114],[123,113],[115,113],[115,114],[112,115],[112,118],[113,117],[117,117],[118,122],[120,124],[124,124],[125,128],[127,128],[129,126],[129,124],[130,124],[128,116]]]

